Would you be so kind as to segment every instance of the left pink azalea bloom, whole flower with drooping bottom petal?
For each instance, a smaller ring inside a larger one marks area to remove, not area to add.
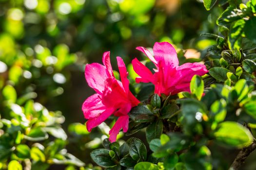
[[[128,72],[120,57],[117,57],[120,79],[114,77],[110,63],[110,52],[104,52],[102,62],[104,64],[87,64],[85,67],[85,79],[96,94],[90,96],[82,105],[82,111],[87,130],[90,132],[112,114],[119,117],[114,127],[109,132],[109,140],[115,142],[121,129],[127,132],[129,116],[132,107],[139,101],[129,90]]]

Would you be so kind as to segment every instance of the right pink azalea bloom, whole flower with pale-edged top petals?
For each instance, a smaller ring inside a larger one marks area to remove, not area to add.
[[[139,51],[155,64],[156,69],[153,74],[146,66],[135,58],[132,61],[135,72],[140,76],[136,82],[143,82],[155,85],[155,93],[162,93],[169,96],[182,91],[190,91],[189,85],[194,75],[204,75],[208,72],[206,67],[200,63],[185,63],[178,66],[177,52],[168,42],[155,43],[153,51],[155,57],[144,47],[137,47]]]

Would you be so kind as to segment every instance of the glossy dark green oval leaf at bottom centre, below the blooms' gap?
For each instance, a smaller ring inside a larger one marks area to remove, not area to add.
[[[129,145],[129,153],[130,156],[136,160],[146,160],[147,159],[147,149],[144,143],[135,137],[131,137],[127,140],[127,144]]]

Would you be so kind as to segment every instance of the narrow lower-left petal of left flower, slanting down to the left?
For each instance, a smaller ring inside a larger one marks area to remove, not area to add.
[[[100,123],[108,119],[110,115],[114,112],[114,108],[107,108],[104,112],[102,112],[98,117],[89,119],[86,122],[86,128],[89,132],[95,127],[97,127]]]

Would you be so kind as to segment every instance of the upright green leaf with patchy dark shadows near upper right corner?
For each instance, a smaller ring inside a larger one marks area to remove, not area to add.
[[[228,35],[229,49],[240,49],[242,42],[242,34],[244,34],[245,20],[239,19],[231,25],[231,29]]]

